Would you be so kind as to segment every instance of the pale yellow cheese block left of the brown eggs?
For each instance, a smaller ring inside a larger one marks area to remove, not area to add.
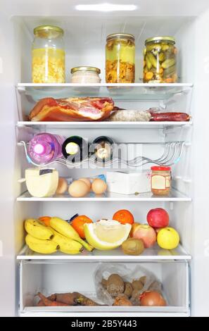
[[[56,169],[28,168],[25,170],[25,181],[28,192],[37,198],[53,196],[58,187]]]

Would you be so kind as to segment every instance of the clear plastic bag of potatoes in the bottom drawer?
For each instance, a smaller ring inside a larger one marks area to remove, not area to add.
[[[161,293],[162,289],[157,277],[141,266],[131,269],[131,265],[103,263],[94,276],[96,295],[108,306],[140,306],[141,293]]]

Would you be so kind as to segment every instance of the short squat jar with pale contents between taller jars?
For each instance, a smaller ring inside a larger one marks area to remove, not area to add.
[[[99,77],[101,70],[96,67],[75,67],[71,69],[71,73],[72,83],[87,84],[101,82],[101,78]]]

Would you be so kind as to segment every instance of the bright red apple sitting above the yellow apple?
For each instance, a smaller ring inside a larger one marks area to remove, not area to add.
[[[148,212],[146,220],[151,227],[167,227],[169,224],[169,215],[165,209],[155,208]]]

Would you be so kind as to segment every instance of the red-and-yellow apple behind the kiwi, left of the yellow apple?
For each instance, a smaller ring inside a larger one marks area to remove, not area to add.
[[[141,239],[144,242],[145,248],[153,246],[157,239],[156,231],[148,224],[140,224],[134,229],[132,236]]]

